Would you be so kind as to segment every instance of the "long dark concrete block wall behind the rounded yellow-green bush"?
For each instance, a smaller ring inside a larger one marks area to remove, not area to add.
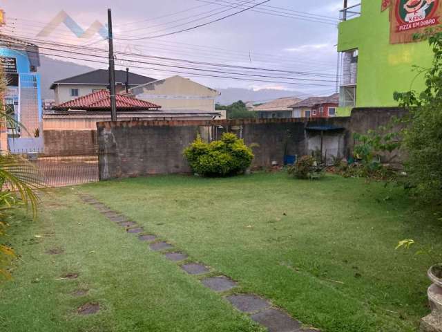
[[[349,118],[98,122],[100,178],[190,173],[182,151],[199,133],[219,138],[213,133],[220,128],[258,145],[253,168],[270,167],[273,161],[282,165],[286,149],[289,155],[308,153],[305,128],[311,123],[347,128]]]

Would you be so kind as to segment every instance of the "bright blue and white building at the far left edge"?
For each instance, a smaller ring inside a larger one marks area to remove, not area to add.
[[[41,85],[37,68],[39,50],[34,44],[0,35],[0,60],[6,74],[6,113],[21,126],[10,124],[6,129],[8,147],[3,139],[1,149],[15,152],[41,149],[42,107]]]

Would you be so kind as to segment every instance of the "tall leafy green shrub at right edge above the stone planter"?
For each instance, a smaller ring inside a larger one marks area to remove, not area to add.
[[[430,69],[421,68],[425,89],[421,93],[395,93],[401,107],[409,111],[403,119],[403,147],[408,159],[408,187],[425,202],[442,197],[442,33],[425,34],[434,59]]]

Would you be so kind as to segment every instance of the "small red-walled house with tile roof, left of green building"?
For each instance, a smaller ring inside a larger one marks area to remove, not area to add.
[[[339,93],[327,97],[310,97],[290,108],[293,110],[294,118],[331,118],[336,116],[336,108],[339,105]]]

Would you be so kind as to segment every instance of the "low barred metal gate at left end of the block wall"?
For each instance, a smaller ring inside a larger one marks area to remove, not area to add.
[[[99,181],[98,153],[48,156],[43,151],[17,151],[15,155],[28,160],[41,185],[63,187]],[[21,172],[32,172],[29,165]]]

